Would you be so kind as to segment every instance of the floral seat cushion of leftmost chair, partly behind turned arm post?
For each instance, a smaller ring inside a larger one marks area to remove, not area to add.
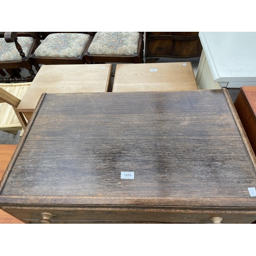
[[[22,47],[25,56],[28,57],[29,50],[32,46],[34,38],[28,36],[21,36],[17,38],[18,43]],[[19,55],[14,42],[6,42],[5,38],[0,38],[0,61],[21,61],[22,57]]]

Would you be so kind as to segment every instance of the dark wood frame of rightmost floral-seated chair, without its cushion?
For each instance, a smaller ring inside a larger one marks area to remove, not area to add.
[[[138,51],[135,55],[91,55],[89,52],[84,54],[84,62],[87,64],[91,63],[105,63],[105,62],[117,62],[117,63],[143,63],[143,34],[144,32],[139,32],[139,42],[138,42]],[[94,37],[93,37],[94,38]],[[92,38],[92,40],[93,40]],[[92,42],[91,40],[91,42]],[[91,45],[91,42],[88,46],[88,49]]]

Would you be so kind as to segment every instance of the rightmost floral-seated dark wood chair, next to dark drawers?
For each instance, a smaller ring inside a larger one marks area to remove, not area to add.
[[[86,63],[143,63],[143,32],[97,32],[84,55]]]

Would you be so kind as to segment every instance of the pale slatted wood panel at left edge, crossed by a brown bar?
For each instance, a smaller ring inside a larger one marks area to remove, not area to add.
[[[29,83],[1,83],[0,87],[5,91],[11,93],[18,99],[22,99],[28,88]],[[1,131],[16,131],[22,130],[22,125],[20,124],[13,108],[8,103],[0,103],[0,130]]]

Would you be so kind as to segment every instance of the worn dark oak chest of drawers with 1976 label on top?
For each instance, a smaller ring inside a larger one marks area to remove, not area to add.
[[[42,94],[0,207],[25,223],[252,223],[255,187],[226,89]]]

